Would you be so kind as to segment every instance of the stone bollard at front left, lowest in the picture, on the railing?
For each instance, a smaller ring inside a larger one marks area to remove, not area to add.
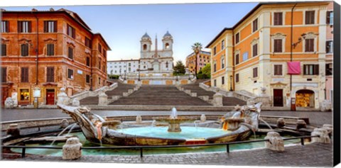
[[[78,138],[69,138],[63,145],[63,159],[79,159],[82,157],[82,144]]]

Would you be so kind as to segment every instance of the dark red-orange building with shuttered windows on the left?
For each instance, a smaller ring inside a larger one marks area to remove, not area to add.
[[[72,11],[5,11],[1,20],[1,103],[55,104],[60,88],[68,96],[106,84],[109,45]]]

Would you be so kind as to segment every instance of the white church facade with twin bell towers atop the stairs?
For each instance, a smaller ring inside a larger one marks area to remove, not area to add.
[[[140,70],[153,72],[173,72],[173,37],[167,31],[163,35],[163,48],[158,50],[158,38],[155,39],[155,50],[151,37],[146,33],[141,38]]]

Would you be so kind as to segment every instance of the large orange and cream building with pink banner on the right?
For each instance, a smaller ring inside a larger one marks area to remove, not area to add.
[[[273,106],[320,108],[332,99],[332,21],[332,1],[258,4],[207,45],[212,86],[266,88]]]

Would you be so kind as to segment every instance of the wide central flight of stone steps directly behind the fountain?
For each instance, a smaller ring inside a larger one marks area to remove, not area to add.
[[[124,96],[110,105],[126,106],[212,106],[197,97],[179,91],[175,86],[146,85],[141,86],[129,96]]]

